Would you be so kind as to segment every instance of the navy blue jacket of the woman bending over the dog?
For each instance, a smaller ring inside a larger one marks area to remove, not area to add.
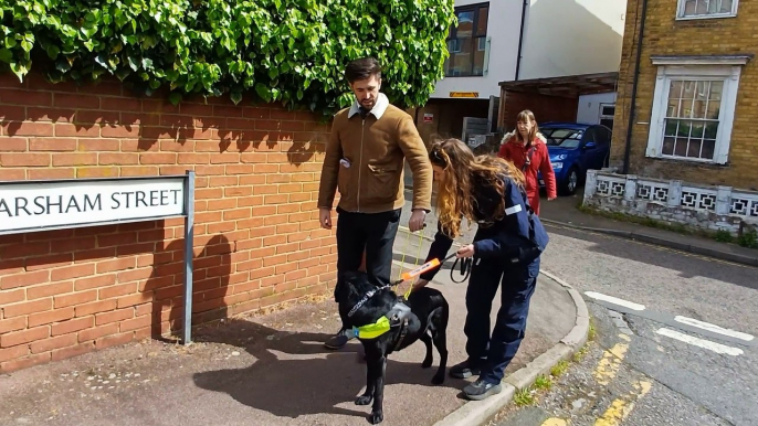
[[[539,217],[530,213],[526,194],[510,179],[504,179],[504,193],[482,178],[474,177],[474,216],[478,230],[474,236],[474,257],[502,258],[507,263],[531,263],[545,251],[549,242]],[[505,199],[505,215],[493,222],[499,200]],[[484,223],[483,223],[484,222]],[[427,260],[443,259],[453,239],[442,232],[438,224],[434,242]],[[526,266],[526,265],[525,265]],[[421,274],[422,279],[432,279],[440,268]]]

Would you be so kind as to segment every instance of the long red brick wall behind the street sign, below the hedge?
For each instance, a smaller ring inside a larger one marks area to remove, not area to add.
[[[197,172],[194,323],[327,290],[335,238],[316,210],[327,131],[277,107],[175,107],[118,82],[0,77],[0,180]],[[182,225],[0,236],[0,372],[178,330]]]

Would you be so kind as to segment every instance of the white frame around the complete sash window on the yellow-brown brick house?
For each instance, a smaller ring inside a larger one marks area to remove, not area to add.
[[[734,115],[737,107],[737,93],[739,90],[739,77],[741,65],[747,63],[746,58],[718,60],[718,58],[653,58],[653,65],[657,65],[657,76],[655,78],[655,89],[653,92],[653,109],[650,119],[650,130],[648,134],[648,147],[645,157],[667,159],[673,161],[684,161],[691,163],[705,164],[727,164],[729,160],[729,148],[731,145],[731,131],[734,127]],[[718,114],[718,130],[716,134],[716,145],[714,147],[714,158],[699,159],[693,157],[680,157],[662,155],[663,136],[665,131],[666,107],[668,105],[668,90],[672,79],[723,79],[724,88],[722,92],[722,104]]]

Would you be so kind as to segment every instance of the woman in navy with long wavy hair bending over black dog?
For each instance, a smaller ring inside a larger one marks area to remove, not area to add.
[[[478,224],[472,244],[456,252],[473,257],[466,289],[467,360],[450,370],[453,377],[478,375],[463,392],[484,400],[501,392],[504,370],[524,339],[529,300],[539,274],[540,255],[548,236],[533,214],[524,192],[524,174],[495,156],[475,157],[457,139],[432,145],[429,158],[438,184],[439,224],[427,260],[442,259],[461,222]],[[439,267],[422,274],[415,287],[425,286]],[[492,301],[501,287],[501,309],[489,336]]]

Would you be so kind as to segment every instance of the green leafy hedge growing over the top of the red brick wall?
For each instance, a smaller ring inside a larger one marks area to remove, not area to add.
[[[0,64],[20,79],[113,74],[151,95],[245,96],[330,114],[345,64],[375,55],[385,92],[425,103],[443,76],[453,0],[0,0]],[[3,70],[3,71],[6,71]]]

